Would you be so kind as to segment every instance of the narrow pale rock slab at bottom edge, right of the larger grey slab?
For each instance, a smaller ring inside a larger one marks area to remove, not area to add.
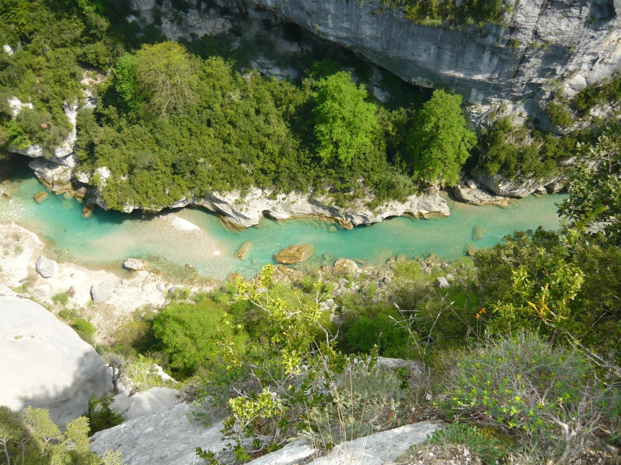
[[[395,458],[404,453],[410,446],[425,441],[427,435],[439,427],[439,423],[433,422],[412,423],[364,438],[346,441],[334,446],[330,453],[310,464],[384,465],[394,463]]]

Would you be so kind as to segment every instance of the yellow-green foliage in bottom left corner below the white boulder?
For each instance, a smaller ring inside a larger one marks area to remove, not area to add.
[[[120,465],[122,453],[107,451],[98,457],[89,449],[88,418],[67,424],[65,432],[46,409],[26,407],[15,412],[0,405],[0,457],[6,465]]]

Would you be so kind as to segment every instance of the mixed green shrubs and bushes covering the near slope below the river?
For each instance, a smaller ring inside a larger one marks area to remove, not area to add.
[[[605,189],[619,135],[581,149],[599,165],[573,169],[561,231],[515,232],[451,263],[402,257],[294,283],[266,267],[252,282],[171,294],[106,353],[163,366],[195,421],[225,418],[242,463],[291,438],[331,449],[427,418],[449,425],[410,454],[461,444],[488,464],[610,458],[621,447],[621,249],[618,195]]]

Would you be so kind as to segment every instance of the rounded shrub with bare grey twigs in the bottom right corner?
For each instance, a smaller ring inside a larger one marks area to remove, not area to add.
[[[524,446],[562,453],[563,463],[599,428],[621,427],[621,392],[599,381],[584,353],[537,336],[491,340],[444,378],[446,415],[494,423]]]

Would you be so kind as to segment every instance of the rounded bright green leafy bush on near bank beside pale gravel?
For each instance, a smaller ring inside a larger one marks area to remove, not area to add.
[[[171,368],[191,375],[217,358],[221,345],[242,350],[247,335],[241,326],[232,328],[227,318],[222,305],[209,299],[171,304],[155,318],[153,331]]]

